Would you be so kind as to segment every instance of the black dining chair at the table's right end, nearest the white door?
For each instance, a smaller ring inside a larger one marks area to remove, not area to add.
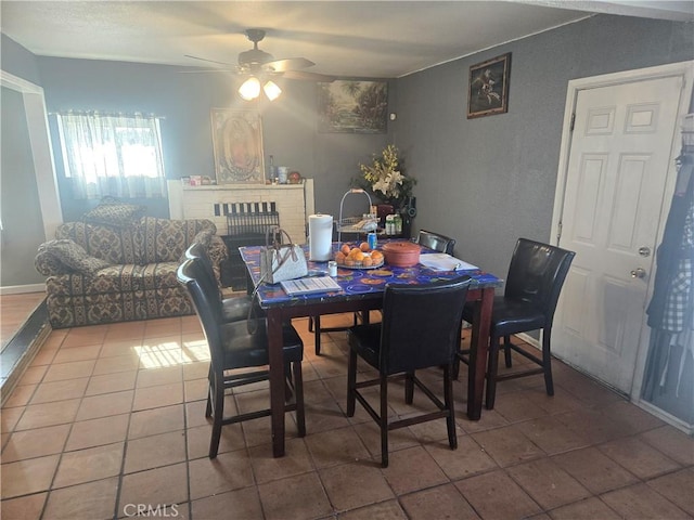
[[[486,406],[494,407],[497,382],[506,379],[544,374],[548,395],[554,395],[552,380],[551,336],[554,311],[566,280],[574,251],[540,242],[518,238],[503,296],[494,297],[489,330],[489,359],[487,363]],[[463,310],[463,320],[474,320],[474,303]],[[511,342],[511,335],[542,332],[541,358],[526,348]],[[504,361],[512,367],[511,351],[517,352],[539,367],[499,374],[499,350],[503,338]],[[470,351],[460,351],[459,360],[467,363]],[[457,367],[458,369],[458,367]]]

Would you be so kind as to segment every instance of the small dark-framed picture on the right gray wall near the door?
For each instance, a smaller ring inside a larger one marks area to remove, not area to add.
[[[467,119],[509,112],[511,53],[470,67]]]

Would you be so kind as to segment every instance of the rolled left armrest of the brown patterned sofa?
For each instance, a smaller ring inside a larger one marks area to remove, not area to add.
[[[82,246],[69,238],[63,238],[41,244],[34,265],[44,276],[73,273],[93,275],[111,263],[89,256]]]

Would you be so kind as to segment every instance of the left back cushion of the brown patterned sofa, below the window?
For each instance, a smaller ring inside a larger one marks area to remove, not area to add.
[[[92,257],[108,263],[137,263],[138,226],[115,227],[87,222],[65,222],[55,230],[55,238],[69,238]]]

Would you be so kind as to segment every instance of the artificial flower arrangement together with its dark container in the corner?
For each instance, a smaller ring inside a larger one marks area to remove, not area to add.
[[[412,219],[416,214],[412,190],[416,180],[406,174],[404,160],[395,144],[388,144],[381,155],[374,154],[370,165],[359,164],[361,178],[352,181],[372,193],[383,204],[390,205],[394,212],[402,218],[402,234],[410,234]]]

